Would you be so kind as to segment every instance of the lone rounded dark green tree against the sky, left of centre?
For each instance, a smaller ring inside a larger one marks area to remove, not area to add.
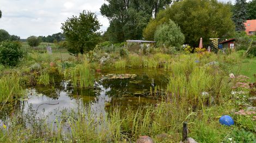
[[[96,15],[90,11],[83,11],[79,17],[72,16],[62,23],[63,34],[69,44],[68,51],[77,55],[93,50],[99,42],[100,23]]]

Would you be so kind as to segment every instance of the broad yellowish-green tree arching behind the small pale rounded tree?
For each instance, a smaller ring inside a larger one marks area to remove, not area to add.
[[[156,27],[169,19],[179,25],[185,42],[198,46],[200,37],[208,44],[209,38],[228,37],[234,32],[230,3],[216,0],[184,0],[174,3],[157,14],[144,30],[146,40],[154,40]]]

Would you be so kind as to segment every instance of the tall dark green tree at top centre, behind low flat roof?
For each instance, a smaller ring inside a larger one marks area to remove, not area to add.
[[[172,0],[105,0],[101,14],[109,19],[105,37],[112,42],[141,39],[142,31],[151,17],[172,3]],[[106,36],[107,35],[107,36]]]

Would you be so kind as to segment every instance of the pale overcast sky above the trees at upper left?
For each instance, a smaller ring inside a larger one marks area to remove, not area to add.
[[[61,23],[68,17],[89,10],[96,13],[102,24],[101,31],[105,31],[109,23],[100,14],[103,3],[104,0],[0,0],[0,29],[21,38],[52,35],[62,31]]]

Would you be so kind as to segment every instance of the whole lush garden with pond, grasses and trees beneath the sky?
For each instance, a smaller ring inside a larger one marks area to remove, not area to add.
[[[187,131],[197,142],[256,141],[256,37],[235,31],[231,4],[177,1],[144,19],[133,3],[121,25],[108,2],[104,34],[85,10],[52,36],[0,30],[0,142],[180,142]],[[208,51],[212,37],[234,37],[235,48]]]

